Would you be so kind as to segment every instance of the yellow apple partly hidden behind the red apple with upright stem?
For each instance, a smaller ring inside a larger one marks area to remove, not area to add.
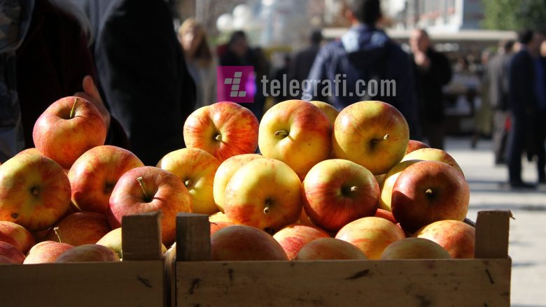
[[[199,148],[183,148],[169,152],[158,162],[160,169],[178,176],[192,199],[193,213],[218,212],[214,202],[213,183],[220,162],[213,155]]]

